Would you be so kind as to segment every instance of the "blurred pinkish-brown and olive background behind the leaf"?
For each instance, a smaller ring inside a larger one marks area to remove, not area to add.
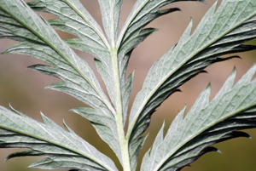
[[[26,0],[25,2],[29,1],[32,0]],[[102,26],[101,13],[97,1],[82,0],[81,2]],[[124,0],[120,27],[124,24],[125,18],[130,13],[135,2],[136,0]],[[207,9],[209,9],[214,2],[214,0],[207,0],[207,4],[195,2],[172,3],[167,7],[178,7],[182,12],[167,14],[148,25],[148,27],[159,28],[159,31],[148,37],[131,55],[127,73],[134,70],[136,72],[131,93],[130,108],[135,95],[143,86],[143,80],[149,68],[156,60],[159,60],[161,55],[165,54],[174,43],[177,43],[186,26],[188,26],[190,18],[194,20],[195,29],[195,26],[197,26],[203,14],[207,12]],[[55,16],[49,14],[42,15],[47,20],[55,18]],[[58,31],[58,33],[60,33],[63,39],[73,37],[61,31]],[[15,41],[0,40],[0,51],[3,52],[5,48],[15,43]],[[253,41],[251,43],[253,43]],[[77,50],[75,50],[75,52],[86,60],[92,69],[96,71],[93,57],[90,54],[82,53]],[[148,151],[148,148],[151,146],[164,120],[166,121],[166,126],[169,126],[178,111],[182,110],[185,104],[188,105],[189,109],[201,91],[207,87],[208,83],[212,84],[212,100],[219,88],[223,85],[225,79],[230,75],[234,66],[236,66],[237,70],[237,81],[256,61],[255,51],[241,53],[239,55],[242,57],[242,60],[229,60],[207,67],[208,73],[200,74],[188,83],[185,83],[181,87],[182,93],[172,94],[170,98],[160,105],[152,116],[151,124],[146,132],[146,134],[148,134],[148,132],[150,134],[143,147],[142,154],[139,156],[139,162],[142,160],[143,153]],[[10,103],[16,110],[38,121],[41,121],[40,111],[59,125],[62,125],[62,119],[64,118],[69,127],[73,128],[77,134],[82,136],[90,144],[95,145],[98,150],[112,157],[119,167],[120,165],[119,162],[117,162],[117,158],[109,149],[108,145],[97,136],[90,122],[69,111],[74,107],[84,106],[84,104],[67,94],[44,89],[44,87],[50,83],[59,82],[60,80],[55,77],[44,76],[26,68],[27,66],[38,63],[42,62],[29,56],[11,54],[0,55],[0,105],[9,107]],[[100,83],[102,83],[102,78],[97,71],[96,76],[99,78]],[[103,83],[102,87],[104,88]],[[251,134],[252,140],[240,138],[214,145],[222,151],[221,154],[217,152],[208,153],[198,161],[192,163],[191,167],[183,168],[183,171],[254,171],[256,168],[256,129],[246,130],[246,132]],[[14,151],[20,151],[20,149],[0,150],[1,171],[40,170],[26,167],[32,162],[39,160],[41,157],[21,157],[4,162],[4,158],[7,157],[10,152]]]

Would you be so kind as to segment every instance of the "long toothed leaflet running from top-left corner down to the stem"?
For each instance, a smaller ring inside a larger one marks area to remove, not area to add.
[[[19,0],[0,2],[0,9],[0,37],[21,42],[5,50],[3,54],[26,54],[49,63],[51,66],[35,65],[30,68],[61,78],[63,82],[53,83],[47,88],[71,94],[92,107],[84,108],[82,114],[79,114],[85,116],[84,112],[88,112],[86,115],[97,113],[95,117],[86,118],[93,123],[102,140],[110,145],[121,161],[119,137],[116,136],[115,129],[117,124],[110,127],[107,123],[101,124],[101,128],[98,128],[101,123],[98,121],[102,117],[115,121],[115,110],[103,93],[90,66],[74,54],[48,22],[41,20],[26,3]]]

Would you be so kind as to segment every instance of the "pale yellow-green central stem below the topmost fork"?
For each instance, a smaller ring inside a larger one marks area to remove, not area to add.
[[[121,101],[121,92],[120,92],[120,83],[119,83],[119,67],[117,61],[117,48],[112,48],[112,63],[113,63],[113,77],[114,77],[114,88],[116,90],[116,124],[119,134],[119,143],[122,156],[122,165],[124,171],[131,171],[130,166],[130,157],[128,149],[128,140],[125,139],[125,130],[123,125],[123,115],[122,115],[122,101]]]

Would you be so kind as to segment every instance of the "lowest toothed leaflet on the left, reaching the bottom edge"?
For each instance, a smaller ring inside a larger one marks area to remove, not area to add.
[[[20,114],[20,113],[18,113]],[[111,159],[81,139],[41,114],[44,123],[39,123],[24,114],[0,106],[0,148],[30,148],[10,154],[9,158],[24,156],[46,157],[29,168],[66,168],[77,170],[113,170]],[[67,125],[65,125],[67,127]]]

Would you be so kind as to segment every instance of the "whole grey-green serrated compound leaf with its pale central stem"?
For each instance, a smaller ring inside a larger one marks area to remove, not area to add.
[[[148,71],[143,88],[131,107],[128,130],[125,123],[134,73],[126,78],[126,68],[132,50],[156,31],[144,28],[149,22],[179,9],[160,9],[169,3],[186,0],[137,0],[119,32],[122,0],[98,0],[104,31],[79,0],[0,1],[0,37],[20,42],[3,54],[26,54],[48,65],[29,66],[32,70],[58,77],[55,89],[81,100],[90,107],[72,111],[88,119],[97,134],[119,158],[124,171],[134,171],[137,157],[147,136],[150,117],[155,109],[178,87],[213,63],[237,57],[221,58],[253,50],[245,45],[256,37],[256,2],[254,0],[223,0],[202,18],[191,34],[191,20],[183,36]],[[203,2],[203,0],[194,0]],[[54,14],[55,20],[44,20],[34,11]],[[56,30],[77,38],[61,40]],[[104,34],[106,33],[106,36]],[[72,48],[95,56],[97,71],[106,85],[103,92],[94,72]],[[184,117],[180,111],[164,137],[165,123],[151,149],[143,157],[143,171],[178,171],[209,151],[211,145],[236,137],[249,137],[238,130],[255,128],[256,82],[254,65],[233,86],[234,70],[223,88],[209,102],[210,86],[195,101]],[[48,117],[44,123],[26,117],[19,111],[0,107],[0,147],[26,147],[31,150],[10,154],[7,159],[23,156],[43,156],[31,168],[67,168],[69,170],[118,170],[112,160],[93,145],[62,129]],[[184,118],[183,118],[184,117]]]

